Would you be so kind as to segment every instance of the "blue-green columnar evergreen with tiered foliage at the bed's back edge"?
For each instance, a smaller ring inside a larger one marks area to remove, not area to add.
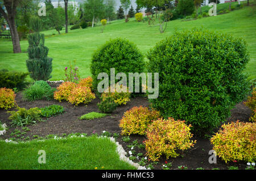
[[[47,81],[51,78],[52,58],[47,57],[49,49],[44,46],[44,34],[39,32],[28,35],[27,69],[35,81]]]

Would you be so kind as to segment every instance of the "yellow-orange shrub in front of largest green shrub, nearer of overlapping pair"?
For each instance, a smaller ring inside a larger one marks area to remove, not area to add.
[[[158,119],[152,122],[147,129],[146,145],[147,156],[152,161],[158,161],[162,155],[177,157],[177,150],[186,150],[194,146],[196,140],[191,140],[190,124],[185,121],[174,120],[172,117]]]

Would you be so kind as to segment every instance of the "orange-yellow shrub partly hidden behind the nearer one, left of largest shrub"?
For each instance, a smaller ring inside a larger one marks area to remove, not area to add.
[[[159,111],[150,110],[147,107],[133,107],[126,111],[119,121],[122,134],[146,134],[148,125],[160,117]]]

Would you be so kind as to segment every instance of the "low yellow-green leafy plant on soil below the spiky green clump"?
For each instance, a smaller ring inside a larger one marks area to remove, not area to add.
[[[36,124],[36,121],[42,121],[40,117],[41,111],[39,108],[30,108],[29,110],[26,110],[26,108],[17,108],[18,111],[7,111],[7,113],[10,113],[11,116],[9,116],[9,119],[11,121],[11,127],[23,127],[28,124]]]

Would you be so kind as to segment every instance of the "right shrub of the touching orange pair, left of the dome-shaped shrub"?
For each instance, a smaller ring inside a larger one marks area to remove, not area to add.
[[[89,87],[77,85],[68,96],[68,102],[77,106],[80,103],[88,104],[95,99],[95,95]]]

